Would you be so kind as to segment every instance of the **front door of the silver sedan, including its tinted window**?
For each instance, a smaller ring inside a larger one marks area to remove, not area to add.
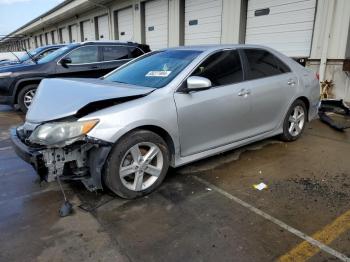
[[[181,156],[188,156],[249,137],[251,103],[236,50],[212,54],[192,73],[212,88],[175,93]]]

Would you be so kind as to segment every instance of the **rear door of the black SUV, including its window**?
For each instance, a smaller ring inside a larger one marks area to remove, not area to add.
[[[101,46],[102,63],[100,63],[101,74],[105,75],[130,61],[129,49],[124,45]]]

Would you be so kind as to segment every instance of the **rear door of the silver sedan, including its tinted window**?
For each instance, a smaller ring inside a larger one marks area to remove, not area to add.
[[[254,135],[275,129],[293,99],[297,76],[272,53],[263,49],[242,49],[252,99]]]

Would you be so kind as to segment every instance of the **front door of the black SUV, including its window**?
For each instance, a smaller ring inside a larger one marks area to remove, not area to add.
[[[56,69],[58,76],[88,78],[103,76],[103,70],[100,68],[101,57],[97,45],[78,47],[63,58],[70,58],[72,63],[64,66],[58,61]]]

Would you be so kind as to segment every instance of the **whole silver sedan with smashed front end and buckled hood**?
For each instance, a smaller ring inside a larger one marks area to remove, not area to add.
[[[315,74],[270,48],[197,46],[146,54],[103,79],[41,82],[15,151],[48,181],[143,196],[169,165],[280,135],[317,114]]]

